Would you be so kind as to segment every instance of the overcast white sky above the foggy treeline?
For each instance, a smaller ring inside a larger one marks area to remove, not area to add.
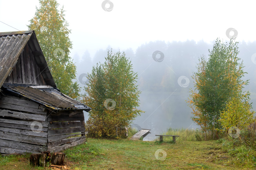
[[[135,51],[141,44],[156,40],[229,40],[226,30],[231,27],[237,30],[238,41],[256,40],[256,1],[111,0],[110,12],[102,9],[102,2],[58,0],[72,30],[71,57],[75,53],[82,56],[86,50],[93,57],[108,45]],[[36,6],[37,0],[0,0],[0,21],[27,30]],[[0,22],[0,32],[6,31],[17,30]]]

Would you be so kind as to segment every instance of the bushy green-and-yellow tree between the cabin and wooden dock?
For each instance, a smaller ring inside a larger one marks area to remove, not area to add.
[[[91,108],[86,130],[90,137],[125,137],[124,127],[129,127],[136,116],[143,113],[139,107],[138,75],[125,53],[108,51],[103,64],[93,66],[88,74],[86,94],[82,103]]]

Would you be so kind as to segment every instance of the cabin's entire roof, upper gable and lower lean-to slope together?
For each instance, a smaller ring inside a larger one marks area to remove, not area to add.
[[[26,44],[34,55],[46,86],[5,82]],[[0,88],[0,91],[25,97],[56,112],[61,110],[85,110],[88,112],[91,110],[87,105],[61,93],[56,87],[34,30],[0,32]]]

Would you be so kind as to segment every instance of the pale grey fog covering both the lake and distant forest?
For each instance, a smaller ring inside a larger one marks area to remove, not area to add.
[[[144,140],[155,139],[155,134],[172,128],[200,128],[191,120],[191,108],[186,100],[189,92],[194,89],[192,74],[196,71],[196,64],[201,55],[208,57],[208,49],[212,49],[215,40],[211,43],[193,40],[185,42],[154,41],[141,44],[136,51],[131,48],[113,49],[113,52],[125,52],[130,58],[133,69],[138,74],[137,84],[141,91],[140,108],[145,111],[133,121],[134,126],[151,129]],[[244,71],[248,74],[243,77],[250,79],[244,90],[251,92],[253,109],[256,107],[255,90],[255,57],[256,42],[239,42],[239,55],[244,63]],[[77,66],[77,81],[81,87],[86,86],[86,77],[80,75],[90,73],[92,66],[103,63],[107,56],[106,49],[99,49],[91,56],[86,50],[82,56],[74,54],[73,59]],[[157,54],[158,53],[158,54]],[[80,76],[80,78],[79,78]],[[81,93],[85,93],[84,90]],[[93,109],[93,108],[92,108]],[[88,113],[85,113],[88,120]]]

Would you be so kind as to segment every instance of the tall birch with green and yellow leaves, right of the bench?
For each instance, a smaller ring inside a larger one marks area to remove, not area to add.
[[[201,126],[205,139],[206,133],[211,134],[213,139],[218,138],[223,127],[232,124],[224,123],[221,119],[227,116],[227,110],[234,110],[230,107],[231,103],[238,101],[236,98],[242,99],[244,103],[241,100],[240,104],[249,108],[250,93],[243,91],[249,81],[242,79],[246,72],[238,54],[238,42],[234,39],[229,43],[216,39],[213,49],[209,50],[209,59],[202,57],[198,71],[192,76],[195,89],[191,90],[188,103],[193,110],[192,120]],[[241,109],[241,105],[236,107]],[[236,119],[243,118],[245,115],[242,113],[247,114],[241,111]]]

